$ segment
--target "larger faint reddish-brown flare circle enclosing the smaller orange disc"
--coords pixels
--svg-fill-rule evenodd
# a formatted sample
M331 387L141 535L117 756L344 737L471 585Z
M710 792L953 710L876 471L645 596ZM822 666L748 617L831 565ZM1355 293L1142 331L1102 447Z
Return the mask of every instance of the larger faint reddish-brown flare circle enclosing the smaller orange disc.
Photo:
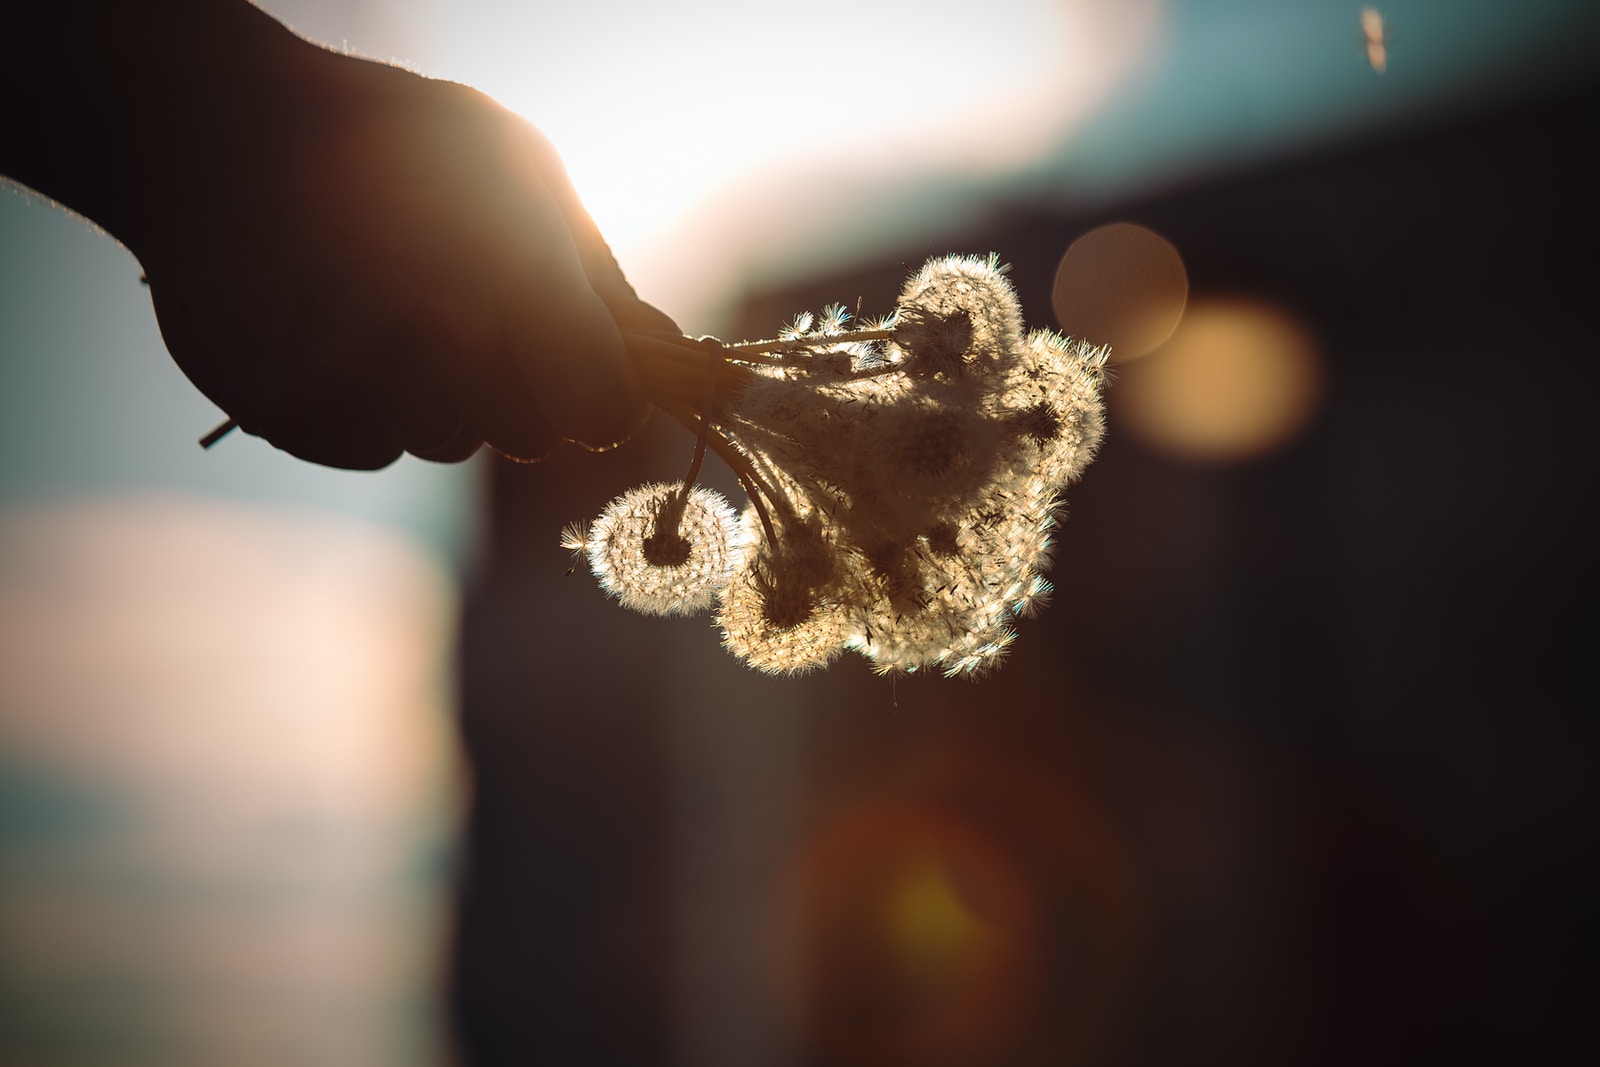
M800 1057L1085 1062L1142 957L1146 891L1117 825L973 737L829 793L768 912L768 989Z

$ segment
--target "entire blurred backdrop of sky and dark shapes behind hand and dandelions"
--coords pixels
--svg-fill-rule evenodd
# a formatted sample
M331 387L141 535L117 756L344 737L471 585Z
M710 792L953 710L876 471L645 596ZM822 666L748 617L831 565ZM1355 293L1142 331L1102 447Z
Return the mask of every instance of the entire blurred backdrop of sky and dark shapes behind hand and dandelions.
M1600 8L262 6L530 117L690 333L998 251L1109 438L998 673L768 678L565 576L682 430L202 453L138 264L0 190L0 1062L1592 1041Z

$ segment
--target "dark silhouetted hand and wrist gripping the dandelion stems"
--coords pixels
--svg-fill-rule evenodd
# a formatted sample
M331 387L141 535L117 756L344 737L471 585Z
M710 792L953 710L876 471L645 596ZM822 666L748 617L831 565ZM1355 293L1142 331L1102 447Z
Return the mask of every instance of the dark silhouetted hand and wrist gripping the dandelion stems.
M634 294L533 126L259 11L174 6L232 19L214 53L187 42L141 62L110 117L74 83L86 125L110 126L118 186L75 203L70 174L42 184L134 251L195 386L246 432L336 467L483 442L534 459L637 429L619 326L675 326Z

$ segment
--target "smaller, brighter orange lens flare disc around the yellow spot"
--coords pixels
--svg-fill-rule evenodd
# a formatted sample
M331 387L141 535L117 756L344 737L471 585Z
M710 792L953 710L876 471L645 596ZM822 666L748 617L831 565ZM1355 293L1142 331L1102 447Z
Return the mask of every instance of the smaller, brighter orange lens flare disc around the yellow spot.
M973 819L883 805L797 856L773 931L784 1013L830 1062L995 1049L1035 985L1040 902Z

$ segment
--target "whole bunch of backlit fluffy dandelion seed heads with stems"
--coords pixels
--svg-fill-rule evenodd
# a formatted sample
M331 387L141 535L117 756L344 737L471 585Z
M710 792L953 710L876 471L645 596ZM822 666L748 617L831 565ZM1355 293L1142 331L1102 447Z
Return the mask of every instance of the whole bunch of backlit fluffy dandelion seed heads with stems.
M854 649L880 672L994 665L1043 571L1062 491L1104 432L1104 347L1024 333L995 256L912 275L886 318L803 314L776 341L629 333L651 400L698 437L682 485L624 493L562 544L624 606L714 609L770 672ZM738 515L694 483L707 448Z

